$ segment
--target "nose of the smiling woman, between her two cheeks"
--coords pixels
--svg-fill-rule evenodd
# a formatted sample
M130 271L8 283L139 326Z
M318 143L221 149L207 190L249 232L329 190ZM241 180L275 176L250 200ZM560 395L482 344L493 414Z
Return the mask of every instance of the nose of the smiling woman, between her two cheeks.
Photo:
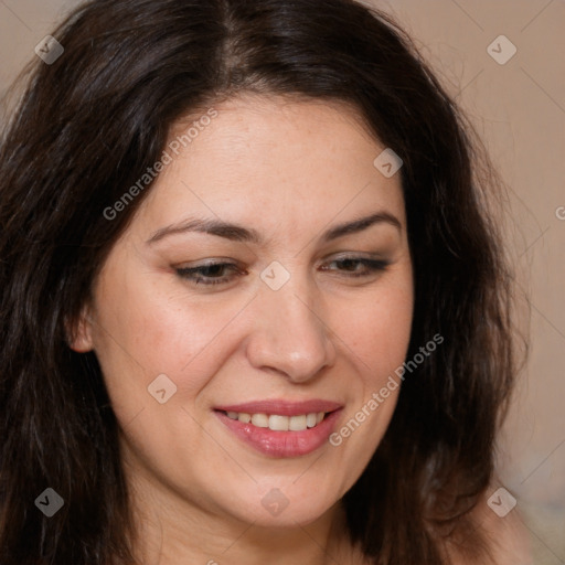
M327 312L315 288L298 276L280 289L259 289L253 301L253 331L247 356L253 366L281 374L295 383L315 379L335 360ZM316 308L318 306L318 308Z

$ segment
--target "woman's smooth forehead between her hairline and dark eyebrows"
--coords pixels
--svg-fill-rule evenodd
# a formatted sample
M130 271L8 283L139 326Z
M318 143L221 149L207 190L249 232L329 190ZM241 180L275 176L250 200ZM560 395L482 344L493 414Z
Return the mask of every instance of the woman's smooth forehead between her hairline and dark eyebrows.
M232 98L174 125L172 161L140 214L152 225L200 213L287 231L380 207L404 221L399 174L373 164L383 149L348 105Z

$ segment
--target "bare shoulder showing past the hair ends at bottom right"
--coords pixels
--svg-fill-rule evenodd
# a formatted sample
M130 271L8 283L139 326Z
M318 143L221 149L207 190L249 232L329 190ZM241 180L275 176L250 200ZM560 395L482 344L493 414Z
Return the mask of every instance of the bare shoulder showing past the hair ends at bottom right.
M489 492L489 495L492 491ZM471 516L491 550L492 565L532 565L530 532L525 527L519 507L505 515L497 514L488 504L488 495L481 498ZM501 512L503 514L503 512ZM475 565L458 555L451 556L451 565Z

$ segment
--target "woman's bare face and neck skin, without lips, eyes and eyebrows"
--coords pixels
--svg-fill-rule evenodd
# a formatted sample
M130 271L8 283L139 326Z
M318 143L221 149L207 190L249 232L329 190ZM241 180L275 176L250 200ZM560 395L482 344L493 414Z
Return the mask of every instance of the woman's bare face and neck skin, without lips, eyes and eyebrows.
M338 447L286 459L243 444L213 407L337 401L339 429L402 365L414 289L399 174L373 166L384 147L345 106L248 95L214 108L113 247L73 342L96 352L121 427L140 562L361 563L340 500L379 446L399 388ZM188 127L177 126L171 139ZM375 212L399 227L321 241ZM147 243L189 216L254 228L264 242L184 232ZM343 255L388 265L348 270L335 263ZM204 286L175 270L206 259L244 274L204 273L231 277ZM260 278L274 260L290 274L279 290ZM177 386L164 404L148 393L160 374ZM271 489L288 500L278 515L262 504Z

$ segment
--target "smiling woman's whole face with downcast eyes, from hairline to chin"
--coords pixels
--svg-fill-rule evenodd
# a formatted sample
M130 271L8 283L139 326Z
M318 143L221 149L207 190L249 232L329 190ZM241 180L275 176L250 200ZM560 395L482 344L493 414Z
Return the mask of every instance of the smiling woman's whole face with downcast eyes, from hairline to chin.
M399 173L345 107L239 97L207 115L171 135L74 348L96 352L140 495L306 524L396 404L380 391L412 323Z

